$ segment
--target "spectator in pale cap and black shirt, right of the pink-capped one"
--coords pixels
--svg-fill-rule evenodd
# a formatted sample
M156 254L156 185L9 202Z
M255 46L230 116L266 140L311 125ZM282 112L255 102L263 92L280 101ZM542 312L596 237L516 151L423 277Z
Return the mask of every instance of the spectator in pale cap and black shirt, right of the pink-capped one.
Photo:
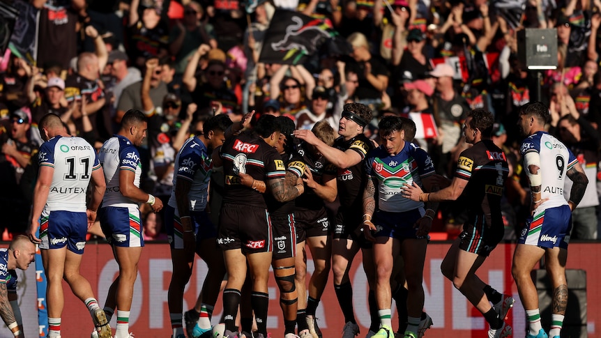
M463 123L469 112L469 106L462 95L455 90L453 77L455 70L447 63L439 63L430 72L436 78L434 94L434 121L438 126L439 137L436 150L432 152L432 160L436 163L436 171L447 177L452 172L451 151L459 143Z

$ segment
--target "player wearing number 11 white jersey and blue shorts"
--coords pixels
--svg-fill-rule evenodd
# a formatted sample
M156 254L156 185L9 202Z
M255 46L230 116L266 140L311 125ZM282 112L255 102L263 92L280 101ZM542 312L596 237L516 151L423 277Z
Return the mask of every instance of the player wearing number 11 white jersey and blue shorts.
M88 308L98 337L110 338L105 312L98 307L90 283L79 273L86 233L105 193L102 167L94 148L81 137L70 137L59 116L47 114L38 128L45 142L40 146L29 238L40 245L48 282L48 337L61 337L65 279ZM91 200L86 206L90 181ZM36 236L38 227L40 238Z

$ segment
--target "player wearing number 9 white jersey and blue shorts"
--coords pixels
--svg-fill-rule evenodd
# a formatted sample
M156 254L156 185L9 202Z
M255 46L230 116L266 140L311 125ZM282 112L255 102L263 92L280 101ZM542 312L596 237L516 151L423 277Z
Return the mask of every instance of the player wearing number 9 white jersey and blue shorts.
M575 155L561 141L545 132L549 109L542 102L528 102L519 109L517 125L526 137L520 147L530 181L531 217L517 240L512 275L528 319L527 338L559 338L568 304L565 263L572 228L572 210L580 203L588 178ZM563 197L566 176L574 183L570 199ZM538 291L530 275L545 256L545 268L553 284L551 330L540 325Z

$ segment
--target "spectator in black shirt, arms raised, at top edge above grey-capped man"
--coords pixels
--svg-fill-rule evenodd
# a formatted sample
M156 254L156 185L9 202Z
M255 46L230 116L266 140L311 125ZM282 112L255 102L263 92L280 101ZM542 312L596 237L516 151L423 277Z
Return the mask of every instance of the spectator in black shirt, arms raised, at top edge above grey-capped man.
M142 7L142 19L138 7ZM162 58L169 54L169 29L161 20L161 10L162 6L154 0L132 0L130 3L125 45L132 64L139 69L144 68L145 61L151 56Z

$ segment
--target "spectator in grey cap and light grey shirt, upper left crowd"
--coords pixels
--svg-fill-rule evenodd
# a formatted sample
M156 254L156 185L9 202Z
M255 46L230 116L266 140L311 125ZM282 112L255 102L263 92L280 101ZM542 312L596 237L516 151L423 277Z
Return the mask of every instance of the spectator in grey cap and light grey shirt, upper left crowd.
M109 53L109 59L107 61L107 68L109 68L111 76L114 78L114 86L109 89L110 96L110 107L111 116L114 118L117 105L119 105L119 99L123 90L142 79L140 71L135 67L128 67L128 54L121 52L119 49L112 50Z

